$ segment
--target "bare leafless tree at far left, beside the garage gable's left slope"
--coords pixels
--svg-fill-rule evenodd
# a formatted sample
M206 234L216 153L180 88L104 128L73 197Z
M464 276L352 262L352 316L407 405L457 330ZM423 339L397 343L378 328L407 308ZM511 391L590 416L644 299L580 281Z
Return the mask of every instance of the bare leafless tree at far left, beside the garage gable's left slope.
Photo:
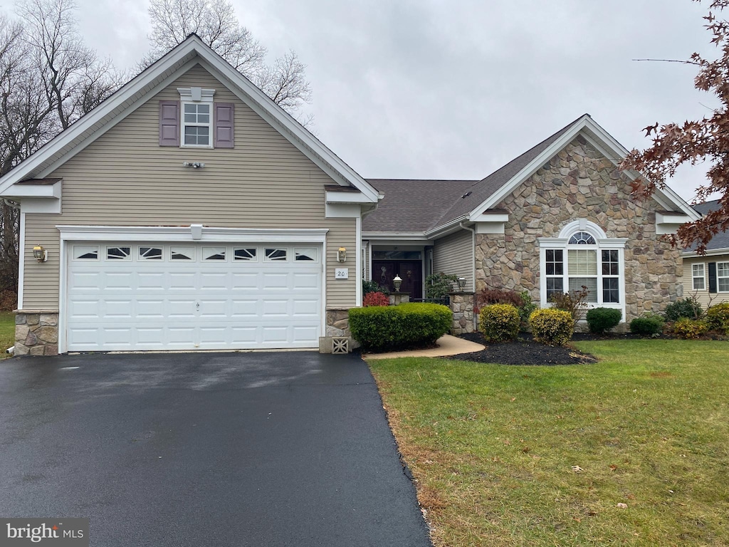
M0 15L0 176L104 101L122 82L85 47L70 0L26 0ZM17 290L17 203L0 201L0 290Z

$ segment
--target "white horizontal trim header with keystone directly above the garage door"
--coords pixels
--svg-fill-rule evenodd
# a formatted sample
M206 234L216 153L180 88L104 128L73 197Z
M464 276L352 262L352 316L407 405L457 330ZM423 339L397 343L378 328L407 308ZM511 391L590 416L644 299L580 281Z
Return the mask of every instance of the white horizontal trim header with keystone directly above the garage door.
M240 243L324 243L327 228L259 229L203 226L193 238L192 226L79 226L58 225L61 241L235 241Z

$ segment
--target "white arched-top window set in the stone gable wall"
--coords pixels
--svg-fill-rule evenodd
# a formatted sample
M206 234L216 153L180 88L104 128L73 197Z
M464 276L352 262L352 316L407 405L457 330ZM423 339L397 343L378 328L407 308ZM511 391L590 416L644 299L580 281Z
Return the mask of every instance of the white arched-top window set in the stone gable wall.
M624 308L625 241L608 238L585 219L569 223L556 238L539 238L542 306L555 293L586 287L591 306Z

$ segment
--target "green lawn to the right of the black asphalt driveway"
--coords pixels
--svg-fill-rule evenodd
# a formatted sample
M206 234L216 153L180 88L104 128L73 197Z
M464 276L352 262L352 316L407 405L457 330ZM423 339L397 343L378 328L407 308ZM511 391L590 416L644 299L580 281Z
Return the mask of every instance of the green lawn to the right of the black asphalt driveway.
M436 546L729 545L729 343L575 345L370 362Z

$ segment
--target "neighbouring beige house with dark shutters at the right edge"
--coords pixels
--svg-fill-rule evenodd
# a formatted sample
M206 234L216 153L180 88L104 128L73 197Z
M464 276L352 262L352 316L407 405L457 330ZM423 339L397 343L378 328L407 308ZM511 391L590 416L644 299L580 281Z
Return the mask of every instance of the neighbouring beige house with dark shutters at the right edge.
M719 201L693 206L700 214L718 209ZM706 245L706 255L687 249L683 252L684 296L695 298L704 308L729 302L729 233L720 232Z

